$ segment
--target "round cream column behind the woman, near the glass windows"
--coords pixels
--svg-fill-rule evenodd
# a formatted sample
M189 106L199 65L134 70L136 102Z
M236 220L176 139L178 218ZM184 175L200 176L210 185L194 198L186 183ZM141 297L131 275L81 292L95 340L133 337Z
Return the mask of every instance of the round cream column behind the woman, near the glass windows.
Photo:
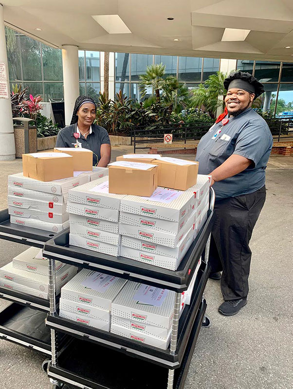
M70 125L74 103L79 96L78 47L62 45L65 124Z

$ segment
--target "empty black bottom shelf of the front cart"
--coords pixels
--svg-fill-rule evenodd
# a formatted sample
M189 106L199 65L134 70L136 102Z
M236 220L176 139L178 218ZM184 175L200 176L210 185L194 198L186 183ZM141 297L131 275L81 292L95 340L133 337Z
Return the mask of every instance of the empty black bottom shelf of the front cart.
M174 389L183 389L206 308L200 309L191 333L182 364L174 373ZM167 387L168 369L139 358L124 355L103 346L74 339L60 353L57 365L50 364L49 377L82 389L163 389Z

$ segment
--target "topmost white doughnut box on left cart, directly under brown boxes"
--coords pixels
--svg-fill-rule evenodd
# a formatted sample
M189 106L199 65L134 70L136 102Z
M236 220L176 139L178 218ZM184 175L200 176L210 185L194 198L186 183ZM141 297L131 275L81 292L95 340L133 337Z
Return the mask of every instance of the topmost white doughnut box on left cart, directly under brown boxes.
M17 173L8 176L8 185L18 189L21 188L21 190L29 189L32 191L53 193L54 195L66 195L70 189L85 184L88 182L88 179L89 178L86 176L79 176L43 182L38 181L37 179L24 177L23 173Z

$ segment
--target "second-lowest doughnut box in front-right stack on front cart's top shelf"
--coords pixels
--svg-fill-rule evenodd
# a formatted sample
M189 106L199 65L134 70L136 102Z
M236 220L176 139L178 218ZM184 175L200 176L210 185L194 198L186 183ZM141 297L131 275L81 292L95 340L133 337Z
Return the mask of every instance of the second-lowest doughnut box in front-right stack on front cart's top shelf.
M144 251L147 253L163 255L165 257L174 258L175 260L181 261L186 253L184 251L190 247L194 240L194 229L193 227L184 235L183 239L175 248L170 248L156 243L146 242L136 238L130 238L129 236L121 237L121 247L135 248L136 250ZM133 259L133 258L132 258ZM143 258L141 258L143 260ZM147 261L149 262L149 261ZM174 261L172 261L174 263ZM175 262L176 264L177 262Z

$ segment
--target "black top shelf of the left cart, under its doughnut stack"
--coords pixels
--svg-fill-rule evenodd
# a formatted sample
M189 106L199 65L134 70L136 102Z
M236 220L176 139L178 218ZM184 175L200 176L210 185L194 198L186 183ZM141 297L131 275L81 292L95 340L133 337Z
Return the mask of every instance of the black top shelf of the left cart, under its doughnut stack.
M43 248L44 243L56 235L54 232L10 223L8 209L0 211L0 239Z

